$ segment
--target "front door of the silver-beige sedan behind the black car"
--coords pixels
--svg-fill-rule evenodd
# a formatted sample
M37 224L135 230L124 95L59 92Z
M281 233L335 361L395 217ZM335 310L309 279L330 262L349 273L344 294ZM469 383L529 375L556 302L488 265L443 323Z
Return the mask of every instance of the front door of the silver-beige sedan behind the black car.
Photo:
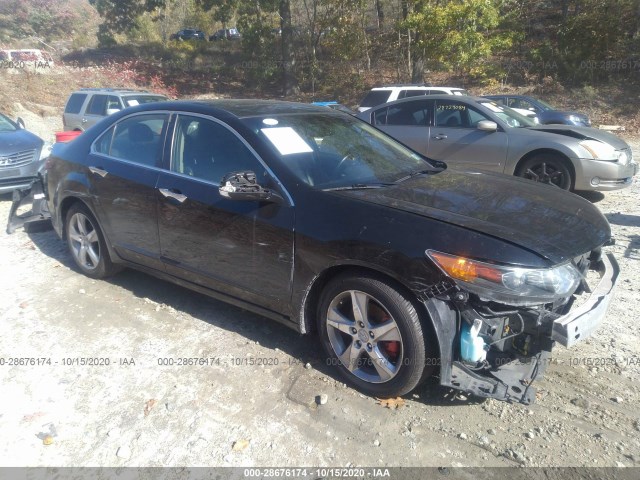
M482 120L493 121L474 106L459 100L435 100L427 156L459 168L502 172L508 150L507 134L498 127L478 129Z

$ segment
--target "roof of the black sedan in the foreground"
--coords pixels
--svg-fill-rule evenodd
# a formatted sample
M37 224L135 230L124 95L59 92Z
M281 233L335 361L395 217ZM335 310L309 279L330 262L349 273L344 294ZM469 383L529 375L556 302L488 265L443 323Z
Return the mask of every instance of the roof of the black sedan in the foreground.
M326 107L280 100L221 99L221 100L174 100L147 103L135 107L145 110L186 110L202 114L216 114L225 111L237 118L259 117L262 115L283 115L292 113L331 113Z

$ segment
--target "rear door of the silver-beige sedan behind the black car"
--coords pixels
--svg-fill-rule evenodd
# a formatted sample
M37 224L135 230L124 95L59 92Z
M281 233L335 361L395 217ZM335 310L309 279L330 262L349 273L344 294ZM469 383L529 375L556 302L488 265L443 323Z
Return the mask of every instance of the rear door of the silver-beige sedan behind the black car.
M373 112L371 122L409 148L426 155L432 105L433 100L420 99L383 107Z

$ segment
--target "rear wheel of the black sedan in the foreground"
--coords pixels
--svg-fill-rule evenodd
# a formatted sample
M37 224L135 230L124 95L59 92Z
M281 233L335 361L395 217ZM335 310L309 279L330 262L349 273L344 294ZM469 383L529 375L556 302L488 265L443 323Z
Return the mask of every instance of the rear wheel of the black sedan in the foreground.
M69 208L65 232L71 256L82 273L91 278L106 278L116 273L104 235L86 206L76 203Z

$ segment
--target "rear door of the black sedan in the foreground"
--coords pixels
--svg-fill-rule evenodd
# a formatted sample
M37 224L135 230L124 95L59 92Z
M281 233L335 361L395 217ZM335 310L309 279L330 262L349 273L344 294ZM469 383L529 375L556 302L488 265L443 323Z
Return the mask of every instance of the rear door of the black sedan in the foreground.
M124 118L96 140L88 164L98 217L118 255L160 269L156 184L168 118Z

